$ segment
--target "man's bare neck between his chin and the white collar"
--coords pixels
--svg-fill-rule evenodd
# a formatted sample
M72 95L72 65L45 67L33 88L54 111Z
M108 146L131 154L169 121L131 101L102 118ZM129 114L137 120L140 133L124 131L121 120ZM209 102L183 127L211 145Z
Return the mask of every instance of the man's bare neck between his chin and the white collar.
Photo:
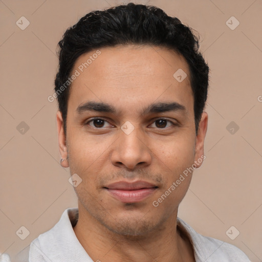
M108 230L79 205L74 232L86 253L97 262L195 261L189 239L177 228L177 210L154 232L128 236Z

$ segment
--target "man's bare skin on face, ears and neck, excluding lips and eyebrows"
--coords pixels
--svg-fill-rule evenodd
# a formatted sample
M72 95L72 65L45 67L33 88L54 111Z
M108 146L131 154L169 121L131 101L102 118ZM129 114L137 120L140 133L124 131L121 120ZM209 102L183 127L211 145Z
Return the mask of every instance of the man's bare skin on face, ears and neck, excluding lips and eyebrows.
M81 55L73 72L95 51ZM152 205L187 167L196 162L200 167L204 155L208 116L202 114L196 135L187 62L160 47L100 51L71 85L66 136L57 113L59 150L66 159L61 165L82 179L74 188L79 207L75 234L94 261L195 261L188 237L177 228L192 172L158 207ZM173 77L178 69L187 74L182 82ZM78 114L77 107L87 101L109 103L116 113ZM141 116L145 106L156 102L177 102L185 110ZM89 122L94 117L105 121ZM156 121L163 118L168 121ZM126 121L134 126L129 135L121 130ZM122 180L144 180L158 188L141 202L123 203L103 188Z

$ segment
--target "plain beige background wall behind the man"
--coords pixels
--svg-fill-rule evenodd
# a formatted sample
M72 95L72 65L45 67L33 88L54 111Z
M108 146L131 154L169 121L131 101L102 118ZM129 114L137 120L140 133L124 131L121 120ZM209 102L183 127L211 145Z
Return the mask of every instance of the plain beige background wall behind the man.
M70 172L59 165L56 102L47 100L56 45L85 13L120 3L0 1L0 252L13 256L53 227L64 209L77 206ZM179 216L199 233L261 261L262 1L135 3L156 5L197 30L211 69L207 158L194 172ZM21 16L30 21L25 30L16 25ZM226 25L231 16L240 22L234 30ZM16 128L22 121L29 126L25 134ZM226 129L231 121L239 126L234 134ZM24 241L16 235L21 226L30 231ZM240 232L233 241L226 235L231 226Z

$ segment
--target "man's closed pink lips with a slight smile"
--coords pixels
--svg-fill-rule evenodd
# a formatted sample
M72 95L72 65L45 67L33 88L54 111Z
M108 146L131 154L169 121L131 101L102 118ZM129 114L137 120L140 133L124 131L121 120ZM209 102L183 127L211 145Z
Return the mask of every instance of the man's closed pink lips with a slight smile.
M123 203L141 202L157 190L157 186L146 181L116 182L104 187L113 198Z

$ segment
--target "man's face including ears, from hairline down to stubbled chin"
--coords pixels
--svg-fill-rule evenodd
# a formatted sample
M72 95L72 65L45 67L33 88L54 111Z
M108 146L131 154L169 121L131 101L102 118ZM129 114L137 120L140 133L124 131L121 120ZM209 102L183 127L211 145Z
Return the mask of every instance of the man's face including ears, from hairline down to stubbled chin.
M60 152L69 158L63 166L82 179L75 187L79 208L113 232L146 234L177 214L192 173L170 187L203 155L206 126L196 136L182 56L150 46L103 48L81 72L95 52L81 55L72 71L80 75L70 90L66 141L57 114ZM179 69L187 74L182 82L173 77Z

